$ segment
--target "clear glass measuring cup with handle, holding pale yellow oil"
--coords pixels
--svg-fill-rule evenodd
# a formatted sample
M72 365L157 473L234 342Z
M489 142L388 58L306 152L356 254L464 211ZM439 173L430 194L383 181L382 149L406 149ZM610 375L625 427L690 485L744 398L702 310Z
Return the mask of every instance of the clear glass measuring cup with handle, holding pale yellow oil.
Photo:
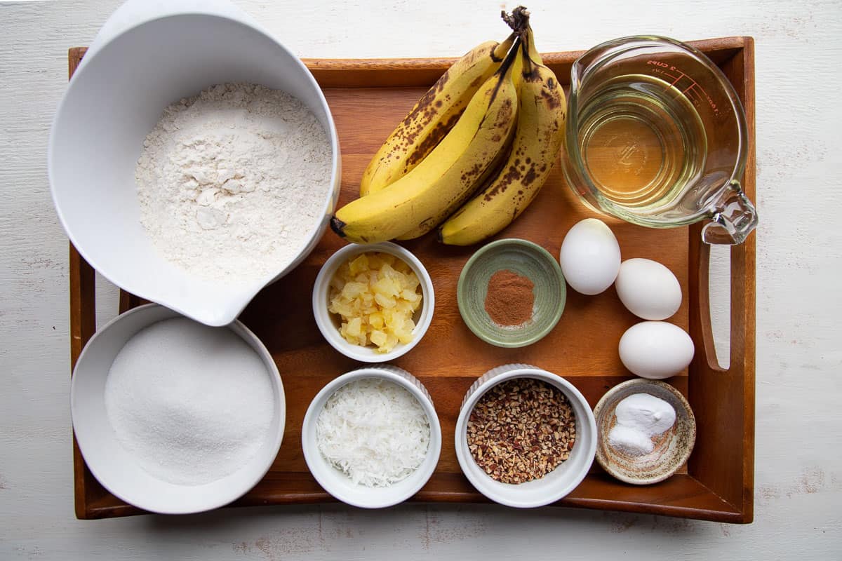
M625 37L573 63L562 169L598 212L654 228L710 220L704 241L741 243L757 226L739 183L748 140L731 83L690 45Z

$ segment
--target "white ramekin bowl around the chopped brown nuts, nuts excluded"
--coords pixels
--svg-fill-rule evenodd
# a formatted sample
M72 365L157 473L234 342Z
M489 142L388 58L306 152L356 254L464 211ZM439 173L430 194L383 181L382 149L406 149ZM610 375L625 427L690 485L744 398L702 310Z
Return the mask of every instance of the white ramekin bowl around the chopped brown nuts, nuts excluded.
M570 458L541 479L521 484L500 483L486 474L474 461L467 444L468 418L477 401L489 389L511 378L536 378L552 384L565 394L576 416L576 442ZM489 499L501 505L532 508L549 505L576 489L588 474L596 453L596 424L588 401L573 384L557 374L528 364L506 364L489 370L474 382L462 401L456 420L456 458L471 484Z

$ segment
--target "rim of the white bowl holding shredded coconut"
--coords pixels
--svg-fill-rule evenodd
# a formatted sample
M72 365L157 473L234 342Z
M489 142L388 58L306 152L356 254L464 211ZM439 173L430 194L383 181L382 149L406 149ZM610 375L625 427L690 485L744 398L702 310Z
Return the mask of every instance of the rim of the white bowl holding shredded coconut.
M372 500L370 502L354 500L354 498L349 497L344 492L344 488L338 488L336 485L332 484L330 479L322 477L322 470L328 468L332 469L332 466L328 464L327 460L322 458L322 454L318 450L317 443L312 441L310 438L306 438L308 429L315 426L318 415L322 412L322 408L330 396L332 396L344 385L354 382L355 380L365 378L385 379L397 384L403 389L408 390L408 392L412 394L416 400L418 400L418 403L427 415L430 435L427 458L424 459L424 463L418 466L418 468L412 474L409 474L407 478L402 479L402 481L406 481L409 478L416 478L417 481L413 485L409 486L408 490L405 490L403 493L392 493L392 495L390 495L390 497L386 500ZM315 434L315 428L312 428L312 432ZM322 489L327 491L329 495L332 495L334 498L341 500L347 505L356 506L358 508L386 508L388 506L402 503L404 500L408 500L410 497L418 493L418 491L427 484L430 477L432 477L435 473L435 468L439 463L441 455L441 443L442 436L439 415L435 411L433 400L427 389L424 387L424 384L421 384L418 378L415 378L406 370L397 368L391 364L366 365L344 373L337 378L333 378L333 380L328 382L328 384L325 384L325 386L316 394L316 397L312 399L310 405L307 406L304 420L301 421L301 450L304 453L304 461L307 464L307 468L310 470L313 478L316 479L317 483L321 485ZM432 459L429 459L428 461L428 458ZM383 487L379 489L389 490L390 488Z

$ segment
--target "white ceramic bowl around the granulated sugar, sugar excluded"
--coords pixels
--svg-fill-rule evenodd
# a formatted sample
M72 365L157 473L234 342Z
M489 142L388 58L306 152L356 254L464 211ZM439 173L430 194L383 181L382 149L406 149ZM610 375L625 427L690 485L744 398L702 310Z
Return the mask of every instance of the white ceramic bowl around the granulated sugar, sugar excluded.
M274 417L266 440L253 458L233 474L200 485L179 485L157 479L141 468L120 445L105 410L105 382L111 363L132 336L161 320L180 317L157 304L146 304L109 321L88 341L73 370L70 409L79 449L103 487L145 511L188 514L209 511L236 500L269 471L284 436L286 404L278 368L257 336L239 321L230 329L254 349L266 366L274 396Z

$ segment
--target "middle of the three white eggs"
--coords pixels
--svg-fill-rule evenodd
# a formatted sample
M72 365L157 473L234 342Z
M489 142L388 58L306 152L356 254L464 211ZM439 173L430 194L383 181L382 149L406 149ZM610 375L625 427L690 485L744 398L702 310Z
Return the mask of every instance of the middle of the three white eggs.
M681 285L667 267L651 259L626 259L614 281L620 301L644 320L666 320L679 310Z

